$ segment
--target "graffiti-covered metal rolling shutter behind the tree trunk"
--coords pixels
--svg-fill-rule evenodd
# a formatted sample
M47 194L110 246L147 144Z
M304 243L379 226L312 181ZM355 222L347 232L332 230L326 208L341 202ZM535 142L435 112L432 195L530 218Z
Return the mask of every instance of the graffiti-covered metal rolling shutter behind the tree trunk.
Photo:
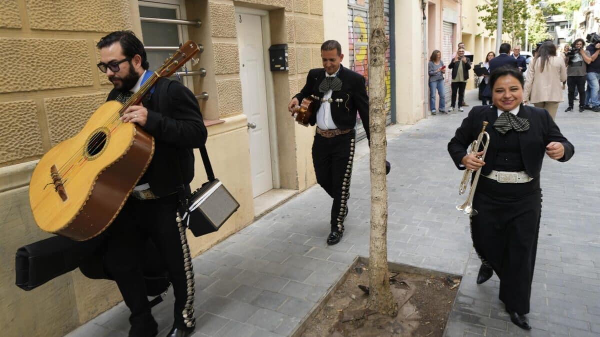
M385 11L385 33L389 37L390 25L389 25L389 1L384 1ZM364 2L364 5L362 3ZM348 0L348 39L349 39L349 61L350 69L356 71L367 80L368 89L368 36L369 36L369 23L368 23L368 0L357 1ZM385 71L385 83L388 88L385 97L385 111L386 111L386 125L392 122L392 89L393 83L391 83L392 69L390 65L390 49L386 50L386 71ZM356 139L362 139L366 137L364 127L362 127L362 121L360 117L356 116Z

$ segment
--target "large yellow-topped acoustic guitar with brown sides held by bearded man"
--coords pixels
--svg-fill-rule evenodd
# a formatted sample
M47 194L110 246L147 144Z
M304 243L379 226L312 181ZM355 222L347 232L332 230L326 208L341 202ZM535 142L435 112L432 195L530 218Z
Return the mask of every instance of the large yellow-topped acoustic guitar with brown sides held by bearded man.
M29 203L42 230L74 240L106 230L154 154L154 138L122 122L122 114L198 51L196 43L184 43L125 104L107 101L76 136L44 154L29 183Z

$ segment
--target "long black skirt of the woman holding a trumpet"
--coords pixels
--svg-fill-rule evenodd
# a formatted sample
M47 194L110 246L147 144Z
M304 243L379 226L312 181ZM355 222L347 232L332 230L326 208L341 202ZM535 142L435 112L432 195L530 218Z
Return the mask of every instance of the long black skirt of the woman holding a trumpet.
M480 177L471 216L473 246L500 278L506 308L529 312L541 216L539 178L528 183L499 183Z

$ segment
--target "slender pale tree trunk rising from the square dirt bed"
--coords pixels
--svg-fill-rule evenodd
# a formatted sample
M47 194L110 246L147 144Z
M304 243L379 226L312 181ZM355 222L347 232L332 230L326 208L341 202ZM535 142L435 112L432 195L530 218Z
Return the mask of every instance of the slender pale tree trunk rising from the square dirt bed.
M383 0L369 1L369 130L371 133L371 242L369 249L369 309L395 317L398 303L389 288L388 187L385 158L385 36Z

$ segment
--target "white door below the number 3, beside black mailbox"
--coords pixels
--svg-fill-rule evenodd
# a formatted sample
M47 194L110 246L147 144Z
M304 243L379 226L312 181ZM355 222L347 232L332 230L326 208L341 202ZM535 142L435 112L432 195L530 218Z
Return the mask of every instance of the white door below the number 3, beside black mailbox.
M248 116L252 194L257 197L273 188L269 120L266 107L265 61L260 16L236 14L239 46L239 77L242 104Z

